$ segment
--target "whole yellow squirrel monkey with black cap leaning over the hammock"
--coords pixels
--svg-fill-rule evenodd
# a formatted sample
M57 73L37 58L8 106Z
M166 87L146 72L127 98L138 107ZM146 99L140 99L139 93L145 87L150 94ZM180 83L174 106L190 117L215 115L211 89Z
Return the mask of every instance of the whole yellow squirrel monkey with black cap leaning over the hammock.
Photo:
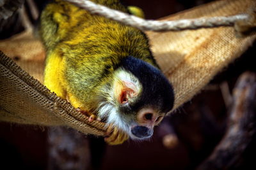
M118 0L94 1L129 13ZM111 145L150 138L174 99L145 34L61 0L47 4L40 20L46 87L90 120L113 125Z

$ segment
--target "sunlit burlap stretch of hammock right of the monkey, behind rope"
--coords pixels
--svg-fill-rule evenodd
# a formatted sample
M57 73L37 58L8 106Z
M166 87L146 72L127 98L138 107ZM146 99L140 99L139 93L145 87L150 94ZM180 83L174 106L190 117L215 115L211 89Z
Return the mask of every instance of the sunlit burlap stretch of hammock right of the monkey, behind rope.
M215 1L182 11L163 20L230 16L255 7L253 0ZM175 91L173 110L189 101L218 72L252 45L256 34L236 37L234 27L179 32L147 32L163 73Z

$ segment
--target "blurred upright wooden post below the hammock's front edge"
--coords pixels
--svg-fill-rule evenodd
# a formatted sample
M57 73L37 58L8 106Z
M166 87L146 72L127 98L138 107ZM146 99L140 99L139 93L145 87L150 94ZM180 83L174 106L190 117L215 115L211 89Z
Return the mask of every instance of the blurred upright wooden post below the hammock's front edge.
M50 127L48 142L47 169L90 169L89 142L81 132L67 127Z

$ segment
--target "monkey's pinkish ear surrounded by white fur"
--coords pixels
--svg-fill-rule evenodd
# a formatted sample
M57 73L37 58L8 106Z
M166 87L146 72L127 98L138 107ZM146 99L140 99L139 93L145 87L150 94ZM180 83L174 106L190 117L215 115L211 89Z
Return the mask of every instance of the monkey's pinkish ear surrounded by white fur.
M118 80L114 83L114 96L120 104L129 103L138 96L138 87L132 81Z

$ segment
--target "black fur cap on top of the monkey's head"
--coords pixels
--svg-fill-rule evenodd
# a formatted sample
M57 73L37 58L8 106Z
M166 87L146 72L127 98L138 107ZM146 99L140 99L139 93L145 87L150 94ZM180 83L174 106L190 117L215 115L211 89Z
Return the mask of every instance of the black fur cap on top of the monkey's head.
M172 110L174 95L170 82L157 67L134 57L125 57L121 66L132 73L141 83L141 94L131 103L132 110L138 111L145 106L156 108L161 113Z

